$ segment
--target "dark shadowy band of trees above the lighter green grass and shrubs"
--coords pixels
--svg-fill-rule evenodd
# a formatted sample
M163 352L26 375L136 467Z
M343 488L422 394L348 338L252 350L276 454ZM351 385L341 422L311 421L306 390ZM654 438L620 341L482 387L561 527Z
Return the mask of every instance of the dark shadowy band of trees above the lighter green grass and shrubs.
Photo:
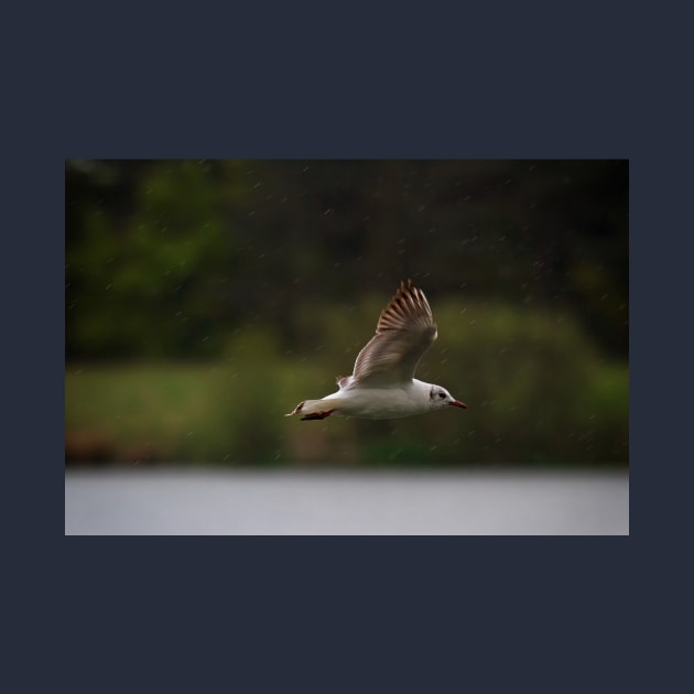
M215 356L401 279L575 313L628 354L626 161L66 162L68 358Z

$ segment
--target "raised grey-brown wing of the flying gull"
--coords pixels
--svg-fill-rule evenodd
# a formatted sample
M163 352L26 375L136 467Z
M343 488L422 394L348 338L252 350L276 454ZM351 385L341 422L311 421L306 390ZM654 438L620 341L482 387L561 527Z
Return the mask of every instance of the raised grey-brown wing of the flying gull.
M409 382L435 339L436 324L424 292L412 281L401 282L378 319L376 335L359 353L354 373L338 380L340 389Z

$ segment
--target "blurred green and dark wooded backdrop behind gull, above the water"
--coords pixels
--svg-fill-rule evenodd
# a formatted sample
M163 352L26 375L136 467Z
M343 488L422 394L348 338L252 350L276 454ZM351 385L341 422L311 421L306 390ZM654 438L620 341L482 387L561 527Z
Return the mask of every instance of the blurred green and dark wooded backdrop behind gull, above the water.
M627 161L65 166L65 459L628 466ZM401 280L468 410L285 419L336 390Z

